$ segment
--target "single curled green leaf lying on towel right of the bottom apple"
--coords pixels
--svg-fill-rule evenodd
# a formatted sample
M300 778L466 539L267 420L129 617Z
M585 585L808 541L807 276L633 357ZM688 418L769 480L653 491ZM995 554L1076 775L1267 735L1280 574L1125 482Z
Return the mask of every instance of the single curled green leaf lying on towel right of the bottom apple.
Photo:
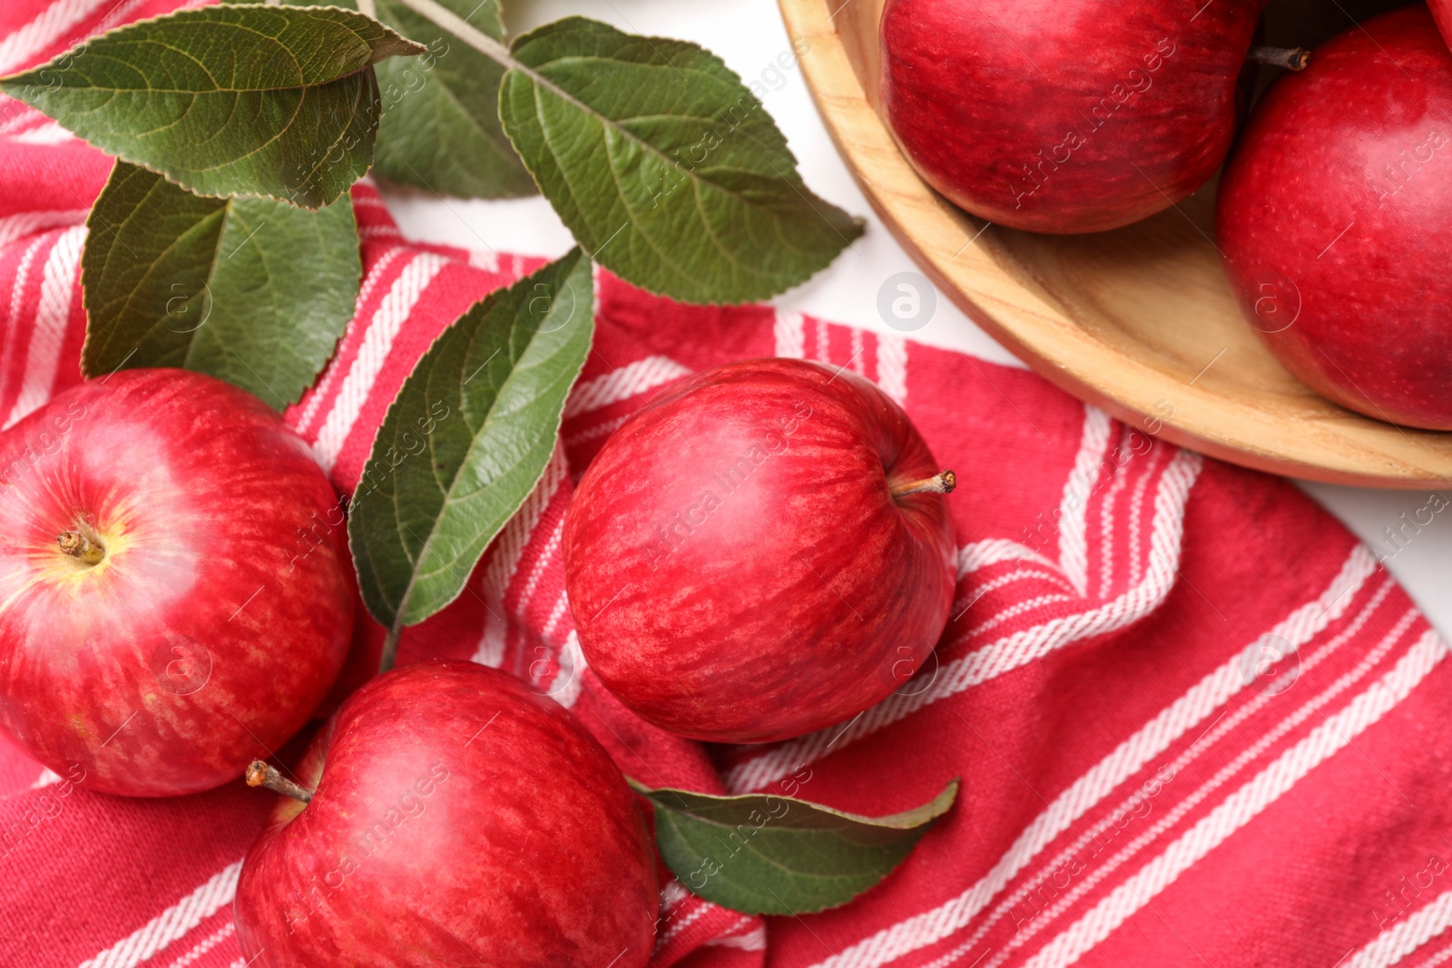
M908 856L958 795L871 819L791 797L650 789L661 859L693 894L742 914L809 914L847 904Z

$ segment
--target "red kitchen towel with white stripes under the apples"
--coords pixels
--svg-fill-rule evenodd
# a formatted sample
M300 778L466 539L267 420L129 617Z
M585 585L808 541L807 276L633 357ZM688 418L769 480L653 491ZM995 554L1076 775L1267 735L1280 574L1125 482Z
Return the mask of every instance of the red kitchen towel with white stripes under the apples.
M0 71L171 6L7 0ZM4 425L80 379L83 221L109 164L0 100ZM287 412L343 492L430 341L540 261L411 244L370 186L353 202L357 315ZM1446 646L1294 488L1159 444L1154 427L1029 373L896 337L681 306L605 273L598 319L544 479L401 660L504 666L652 785L886 814L964 779L902 868L844 908L742 917L668 884L653 968L1452 959ZM560 522L572 482L648 393L754 356L851 369L906 406L960 475L958 601L935 659L883 704L787 743L706 747L635 718L592 678ZM359 649L376 646L364 623ZM0 740L0 964L242 965L231 900L270 797L232 784L122 800L76 779ZM717 861L730 864L726 848Z

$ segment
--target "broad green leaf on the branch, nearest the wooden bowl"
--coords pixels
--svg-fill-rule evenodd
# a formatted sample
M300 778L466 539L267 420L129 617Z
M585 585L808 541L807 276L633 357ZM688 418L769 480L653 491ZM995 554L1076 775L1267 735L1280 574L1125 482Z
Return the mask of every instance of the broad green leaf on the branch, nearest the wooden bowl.
M575 239L629 282L697 303L765 299L861 235L709 51L569 17L513 57L504 131Z

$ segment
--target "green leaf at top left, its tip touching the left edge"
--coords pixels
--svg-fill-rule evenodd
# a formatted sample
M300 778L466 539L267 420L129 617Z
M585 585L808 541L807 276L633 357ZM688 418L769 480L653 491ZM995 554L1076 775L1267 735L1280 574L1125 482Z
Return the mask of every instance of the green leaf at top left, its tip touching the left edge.
M199 7L105 33L0 90L197 194L317 209L373 160L372 65L423 49L348 10Z

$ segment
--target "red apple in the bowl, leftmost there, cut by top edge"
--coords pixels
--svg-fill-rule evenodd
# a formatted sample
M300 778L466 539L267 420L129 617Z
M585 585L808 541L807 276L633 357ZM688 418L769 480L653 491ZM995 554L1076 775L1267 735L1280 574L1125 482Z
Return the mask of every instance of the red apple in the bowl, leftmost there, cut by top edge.
M1220 167L1265 0L889 0L881 107L973 215L1096 232Z

